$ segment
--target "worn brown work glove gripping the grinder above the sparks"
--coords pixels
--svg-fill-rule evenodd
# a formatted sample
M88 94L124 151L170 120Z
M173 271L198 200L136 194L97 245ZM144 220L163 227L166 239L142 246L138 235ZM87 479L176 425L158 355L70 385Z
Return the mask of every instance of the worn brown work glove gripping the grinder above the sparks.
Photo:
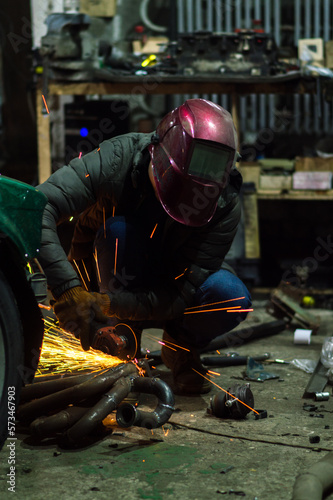
M66 290L52 306L60 327L79 338L82 349L88 351L92 322L107 322L110 298L106 293L90 293L76 286Z

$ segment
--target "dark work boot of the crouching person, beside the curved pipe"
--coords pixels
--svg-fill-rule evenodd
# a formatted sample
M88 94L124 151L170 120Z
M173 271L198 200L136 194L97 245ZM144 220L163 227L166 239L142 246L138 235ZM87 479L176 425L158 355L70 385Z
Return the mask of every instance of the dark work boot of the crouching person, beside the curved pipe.
M172 371L175 392L188 395L209 392L212 384L204 378L209 377L201 364L199 352L173 339L165 331L163 341L165 345L162 345L161 357L165 366Z

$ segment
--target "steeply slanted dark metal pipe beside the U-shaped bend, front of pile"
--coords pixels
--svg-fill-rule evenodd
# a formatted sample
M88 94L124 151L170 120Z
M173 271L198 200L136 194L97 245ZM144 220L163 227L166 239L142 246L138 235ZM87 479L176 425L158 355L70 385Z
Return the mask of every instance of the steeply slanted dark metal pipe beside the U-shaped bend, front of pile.
M84 436L90 434L126 398L131 392L131 387L132 381L129 377L119 378L112 389L103 394L102 399L67 430L66 438L69 443L79 443Z

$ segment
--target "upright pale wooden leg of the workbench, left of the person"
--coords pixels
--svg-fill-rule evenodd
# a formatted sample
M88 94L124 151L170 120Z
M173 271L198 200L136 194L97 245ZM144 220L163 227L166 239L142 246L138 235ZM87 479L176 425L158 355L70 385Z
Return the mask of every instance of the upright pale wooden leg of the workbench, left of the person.
M46 181L52 173L51 143L50 143L50 115L43 114L44 102L42 90L36 89L36 119L37 119L37 147L38 147L38 183Z

